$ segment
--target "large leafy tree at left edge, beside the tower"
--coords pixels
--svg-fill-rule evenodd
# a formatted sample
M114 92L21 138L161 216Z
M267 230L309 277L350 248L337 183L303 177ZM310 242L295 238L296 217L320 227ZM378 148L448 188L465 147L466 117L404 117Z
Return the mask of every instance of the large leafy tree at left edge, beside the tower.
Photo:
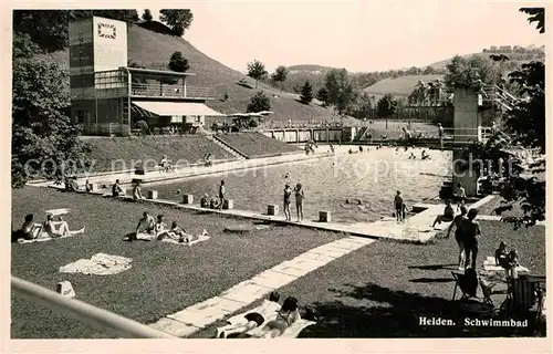
M90 149L65 114L67 72L28 56L38 49L28 34L14 33L13 48L12 187L22 188L33 177L56 179L90 167Z

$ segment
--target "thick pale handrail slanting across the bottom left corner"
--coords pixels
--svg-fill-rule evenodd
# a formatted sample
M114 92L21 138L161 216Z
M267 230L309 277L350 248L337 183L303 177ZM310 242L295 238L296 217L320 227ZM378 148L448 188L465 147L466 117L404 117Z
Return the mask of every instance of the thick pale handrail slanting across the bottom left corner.
M145 324L85 302L62 296L52 290L48 290L15 277L11 277L11 289L29 301L44 305L50 310L59 311L66 316L92 325L102 332L106 330L113 331L113 333L119 337L176 339L173 335L154 330Z

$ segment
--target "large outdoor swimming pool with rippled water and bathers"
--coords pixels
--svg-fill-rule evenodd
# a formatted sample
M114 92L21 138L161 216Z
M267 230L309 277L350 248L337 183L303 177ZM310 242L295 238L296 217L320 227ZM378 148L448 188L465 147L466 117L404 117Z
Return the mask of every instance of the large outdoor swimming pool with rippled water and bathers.
M217 195L220 180L225 179L227 198L233 199L234 209L264 214L267 206L274 204L282 214L285 181L292 186L301 183L305 190L306 220L315 220L320 210L327 210L333 221L375 221L382 216L392 216L396 190L401 191L410 208L438 196L444 176L451 171L450 152L428 150L431 159L420 160L421 148L405 152L372 147L358 153L357 147L352 147L357 153L347 154L348 148L341 146L332 157L148 184L145 189L156 189L160 199L180 202L182 194L191 194L199 204L204 194ZM409 159L411 153L417 157L415 160ZM346 199L351 202L346 204ZM292 216L295 220L294 198Z

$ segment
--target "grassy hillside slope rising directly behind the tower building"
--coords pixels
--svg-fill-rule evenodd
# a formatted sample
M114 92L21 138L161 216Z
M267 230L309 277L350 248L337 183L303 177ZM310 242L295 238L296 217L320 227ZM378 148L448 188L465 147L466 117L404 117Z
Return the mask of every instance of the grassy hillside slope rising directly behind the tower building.
M330 108L323 108L314 103L303 105L296 101L299 100L296 94L278 92L263 83L258 84L258 90L238 85L237 81L244 77L242 73L207 56L182 38L133 25L128 29L127 42L128 59L149 69L166 70L170 55L175 51L182 52L182 55L188 59L189 72L196 74L189 79L189 85L213 87L217 98L209 101L208 106L221 113L246 112L250 98L257 91L261 90L271 98L271 111L274 112L271 118L274 121L288 121L289 118L304 121L310 117L330 119L332 116ZM43 59L58 62L69 70L69 49L43 55ZM251 86L254 86L253 80L250 77L247 80ZM221 101L225 93L229 95L227 102ZM274 97L273 94L279 97Z

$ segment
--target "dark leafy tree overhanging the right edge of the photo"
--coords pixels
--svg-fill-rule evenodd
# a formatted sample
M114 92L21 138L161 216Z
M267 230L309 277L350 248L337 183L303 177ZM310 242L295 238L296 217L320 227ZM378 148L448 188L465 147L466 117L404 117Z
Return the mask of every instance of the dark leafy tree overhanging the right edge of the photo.
M540 21L535 20L540 18L543 21L543 8L528 13L531 14L529 22ZM538 29L543 33L543 27L539 25ZM545 219L545 64L536 61L522 64L520 70L509 74L509 80L519 87L517 94L521 96L512 110L505 112L502 121L503 129L513 139L509 142L501 133L497 133L486 144L472 144L463 153L467 160L472 157L477 174L486 173L489 176L481 188L490 192L498 191L502 197L497 214L512 209L514 204L521 206L523 216L504 218L517 229ZM533 148L538 154L525 162L517 154L517 146ZM486 162L483 167L481 162ZM509 169L505 168L508 163Z

